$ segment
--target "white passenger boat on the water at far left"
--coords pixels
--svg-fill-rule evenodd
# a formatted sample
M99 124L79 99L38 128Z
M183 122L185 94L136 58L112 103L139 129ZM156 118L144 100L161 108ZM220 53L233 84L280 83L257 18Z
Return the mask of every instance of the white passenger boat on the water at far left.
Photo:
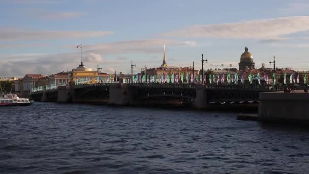
M0 106L29 106L32 105L27 98L19 98L16 94L5 94L0 98Z

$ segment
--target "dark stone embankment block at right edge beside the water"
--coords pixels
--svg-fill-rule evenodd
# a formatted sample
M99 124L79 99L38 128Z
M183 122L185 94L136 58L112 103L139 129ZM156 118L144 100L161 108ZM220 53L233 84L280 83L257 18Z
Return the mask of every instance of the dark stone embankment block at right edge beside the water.
M263 92L259 98L259 120L309 123L309 93Z

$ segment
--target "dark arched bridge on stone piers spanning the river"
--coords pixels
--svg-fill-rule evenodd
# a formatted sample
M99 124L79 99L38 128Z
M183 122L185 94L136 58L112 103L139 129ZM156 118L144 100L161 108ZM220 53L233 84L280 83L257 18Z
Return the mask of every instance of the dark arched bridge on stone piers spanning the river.
M85 102L115 105L193 105L207 108L212 103L258 102L259 93L283 90L265 85L122 84L98 83L59 86L36 91L35 101Z

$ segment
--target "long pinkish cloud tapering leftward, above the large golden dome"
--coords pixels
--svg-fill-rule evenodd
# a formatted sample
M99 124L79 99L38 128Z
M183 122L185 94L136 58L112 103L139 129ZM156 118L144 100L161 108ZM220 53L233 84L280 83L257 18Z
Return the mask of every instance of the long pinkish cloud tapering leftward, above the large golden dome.
M209 37L234 39L283 39L282 36L309 30L309 16L252 20L238 23L193 25L163 33L165 37Z

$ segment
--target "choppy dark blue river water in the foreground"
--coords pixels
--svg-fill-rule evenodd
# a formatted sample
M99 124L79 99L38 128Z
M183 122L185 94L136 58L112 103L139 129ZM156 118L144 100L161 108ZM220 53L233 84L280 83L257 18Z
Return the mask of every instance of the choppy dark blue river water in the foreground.
M309 173L309 131L235 113L0 108L0 173Z

